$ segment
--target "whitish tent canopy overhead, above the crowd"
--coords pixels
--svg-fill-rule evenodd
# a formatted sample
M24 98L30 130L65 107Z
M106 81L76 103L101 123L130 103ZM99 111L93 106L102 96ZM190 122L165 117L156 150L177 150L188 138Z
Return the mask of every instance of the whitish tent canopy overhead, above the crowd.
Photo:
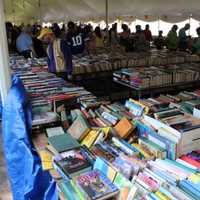
M105 19L106 0L4 0L6 19L14 22L100 21ZM200 20L200 0L108 0L109 20L135 18L167 22L192 16Z

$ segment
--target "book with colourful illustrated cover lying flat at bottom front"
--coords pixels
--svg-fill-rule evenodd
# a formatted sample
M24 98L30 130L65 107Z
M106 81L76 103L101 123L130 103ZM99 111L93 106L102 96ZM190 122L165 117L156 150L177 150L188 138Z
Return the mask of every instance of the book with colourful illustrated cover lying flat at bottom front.
M92 170L76 178L76 183L91 200L114 197L118 188L99 170Z

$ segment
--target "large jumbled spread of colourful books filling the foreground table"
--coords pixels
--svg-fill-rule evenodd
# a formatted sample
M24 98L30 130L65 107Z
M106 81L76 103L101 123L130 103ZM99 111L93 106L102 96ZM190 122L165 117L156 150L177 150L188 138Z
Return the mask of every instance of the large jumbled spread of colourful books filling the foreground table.
M199 90L81 107L34 143L61 199L199 200L199 108Z

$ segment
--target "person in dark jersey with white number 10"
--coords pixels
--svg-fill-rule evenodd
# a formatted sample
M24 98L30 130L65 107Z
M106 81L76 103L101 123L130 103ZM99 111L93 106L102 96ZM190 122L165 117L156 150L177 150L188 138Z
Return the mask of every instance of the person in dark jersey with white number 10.
M72 55L83 53L88 48L89 37L82 33L81 30L78 30L74 22L68 23L66 40L71 48Z

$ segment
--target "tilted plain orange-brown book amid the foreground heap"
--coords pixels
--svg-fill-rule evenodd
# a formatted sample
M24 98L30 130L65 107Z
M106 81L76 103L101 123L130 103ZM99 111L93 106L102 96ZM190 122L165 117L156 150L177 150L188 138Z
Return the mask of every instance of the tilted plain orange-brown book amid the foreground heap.
M121 138L126 138L132 133L134 126L126 117L123 117L114 129Z

